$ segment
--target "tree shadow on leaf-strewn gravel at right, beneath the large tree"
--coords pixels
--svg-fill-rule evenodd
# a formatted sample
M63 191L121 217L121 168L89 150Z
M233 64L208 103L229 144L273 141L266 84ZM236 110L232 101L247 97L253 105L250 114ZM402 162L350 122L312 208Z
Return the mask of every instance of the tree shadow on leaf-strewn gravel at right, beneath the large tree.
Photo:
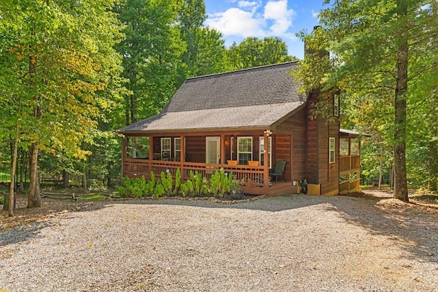
M340 196L339 196L340 197ZM404 203L397 199L357 196L344 197L348 204L330 202L349 223L371 234L389 237L394 245L417 260L438 263L438 212L436 206Z

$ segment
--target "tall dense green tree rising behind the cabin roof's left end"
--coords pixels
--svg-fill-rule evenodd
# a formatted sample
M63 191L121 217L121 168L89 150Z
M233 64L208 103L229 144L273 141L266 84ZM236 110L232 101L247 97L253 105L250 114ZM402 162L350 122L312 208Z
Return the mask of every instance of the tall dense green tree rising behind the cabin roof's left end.
M127 125L157 114L176 91L185 51L175 25L180 9L181 3L175 0L126 0L116 7L125 24L125 39L117 49L131 91L125 100Z

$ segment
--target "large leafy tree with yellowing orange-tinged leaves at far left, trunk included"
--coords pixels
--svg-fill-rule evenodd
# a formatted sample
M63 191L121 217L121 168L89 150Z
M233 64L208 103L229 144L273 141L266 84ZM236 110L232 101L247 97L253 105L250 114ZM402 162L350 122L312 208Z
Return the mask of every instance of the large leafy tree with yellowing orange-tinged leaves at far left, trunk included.
M23 105L21 145L29 147L28 208L40 206L38 154L65 151L84 158L100 110L111 106L105 90L118 90L120 38L112 1L6 1L0 15L2 68L12 74L10 94ZM0 88L3 95L5 88ZM14 134L14 132L10 133ZM16 136L16 135L11 135Z

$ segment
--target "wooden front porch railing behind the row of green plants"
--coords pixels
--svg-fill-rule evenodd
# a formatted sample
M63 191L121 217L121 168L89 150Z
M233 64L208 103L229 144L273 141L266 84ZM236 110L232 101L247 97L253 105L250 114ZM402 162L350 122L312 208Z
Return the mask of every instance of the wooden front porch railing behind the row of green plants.
M205 164L199 162L179 162L179 161L162 161L162 160L147 160L147 159L131 159L126 158L123 165L124 173L130 178L144 177L149 179L151 171L158 178L159 175L166 171L170 171L175 176L177 169L181 170L181 178L187 180L190 178L190 171L198 171L203 177L209 179L211 174L216 170L223 168L227 173L233 173L233 176L237 180L253 180L255 182L263 181L263 166L248 167L248 165L236 165L232 167L230 165L215 165Z

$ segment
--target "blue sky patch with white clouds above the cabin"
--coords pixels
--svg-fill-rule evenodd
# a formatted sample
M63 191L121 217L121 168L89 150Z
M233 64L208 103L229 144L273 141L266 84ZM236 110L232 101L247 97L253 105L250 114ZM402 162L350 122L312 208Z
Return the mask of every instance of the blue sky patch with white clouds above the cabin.
M302 29L311 32L324 0L204 0L205 24L222 32L225 45L248 36L278 36L289 55L303 57L304 44L296 37ZM324 7L325 8L325 7Z

